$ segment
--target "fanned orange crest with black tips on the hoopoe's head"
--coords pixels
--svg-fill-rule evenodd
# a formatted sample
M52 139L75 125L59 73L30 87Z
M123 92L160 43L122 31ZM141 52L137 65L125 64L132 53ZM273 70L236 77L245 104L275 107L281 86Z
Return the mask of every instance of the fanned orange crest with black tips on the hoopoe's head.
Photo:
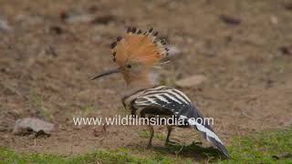
M159 64L168 56L165 40L156 40L158 32L152 28L142 33L136 27L129 27L124 37L118 36L117 41L111 44L114 62L124 67L127 62L136 62L145 67Z

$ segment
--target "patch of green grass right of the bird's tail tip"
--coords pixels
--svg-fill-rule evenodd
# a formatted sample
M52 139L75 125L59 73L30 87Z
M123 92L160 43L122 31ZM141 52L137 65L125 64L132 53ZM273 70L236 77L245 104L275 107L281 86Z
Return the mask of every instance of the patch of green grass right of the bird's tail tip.
M233 159L222 163L292 163L292 128L235 137L227 149Z

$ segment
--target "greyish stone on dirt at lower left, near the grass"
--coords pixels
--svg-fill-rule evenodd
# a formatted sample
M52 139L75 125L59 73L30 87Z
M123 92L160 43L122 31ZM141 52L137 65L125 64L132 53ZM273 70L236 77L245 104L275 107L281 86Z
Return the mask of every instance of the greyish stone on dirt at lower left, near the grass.
M15 127L13 128L13 134L26 135L32 132L50 134L54 130L54 124L46 122L38 118L22 118L17 119Z

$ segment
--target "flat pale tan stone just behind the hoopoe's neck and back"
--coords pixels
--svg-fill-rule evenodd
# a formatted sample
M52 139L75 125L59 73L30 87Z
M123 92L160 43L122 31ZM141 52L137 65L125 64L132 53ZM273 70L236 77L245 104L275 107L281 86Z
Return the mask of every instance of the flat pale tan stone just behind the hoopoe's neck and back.
M192 77L186 77L180 80L175 81L177 87L197 87L206 80L206 77L203 75L194 75Z

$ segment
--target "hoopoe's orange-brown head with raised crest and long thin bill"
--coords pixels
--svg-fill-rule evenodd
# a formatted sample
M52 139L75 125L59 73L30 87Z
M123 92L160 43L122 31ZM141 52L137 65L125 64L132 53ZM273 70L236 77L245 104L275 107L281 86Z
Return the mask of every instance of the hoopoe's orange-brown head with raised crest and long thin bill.
M147 82L149 70L162 62L168 56L165 40L156 40L158 32L152 28L142 33L135 27L128 28L127 34L118 36L117 41L111 44L113 61L119 68L100 74L93 79L104 77L112 73L121 72L127 84Z

